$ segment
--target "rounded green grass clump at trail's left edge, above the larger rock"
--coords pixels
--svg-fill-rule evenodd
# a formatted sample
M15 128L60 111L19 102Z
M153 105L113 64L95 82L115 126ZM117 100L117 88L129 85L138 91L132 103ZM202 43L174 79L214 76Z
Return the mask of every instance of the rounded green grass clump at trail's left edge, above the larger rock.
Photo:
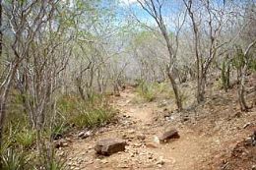
M103 103L103 96L95 95L85 101L71 95L63 96L58 102L59 112L66 123L76 127L96 127L108 122L114 116L114 109Z

